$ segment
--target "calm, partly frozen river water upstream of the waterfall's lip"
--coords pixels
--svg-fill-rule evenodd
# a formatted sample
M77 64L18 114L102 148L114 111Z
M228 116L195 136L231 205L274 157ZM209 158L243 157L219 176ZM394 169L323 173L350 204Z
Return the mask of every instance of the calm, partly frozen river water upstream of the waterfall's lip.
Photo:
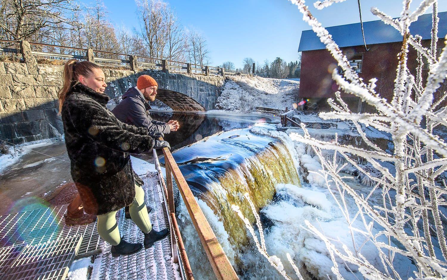
M151 115L160 121L174 119L180 122L179 131L165 135L165 139L173 148L172 151L221 131L248 127L258 122L278 121L261 114L219 112L152 112ZM0 215L46 207L46 200L50 200L64 185L72 182L64 141L42 142L26 146L22 150L23 154L12 165L0 171L0 200L3 202L0 205ZM152 163L151 154L138 157Z

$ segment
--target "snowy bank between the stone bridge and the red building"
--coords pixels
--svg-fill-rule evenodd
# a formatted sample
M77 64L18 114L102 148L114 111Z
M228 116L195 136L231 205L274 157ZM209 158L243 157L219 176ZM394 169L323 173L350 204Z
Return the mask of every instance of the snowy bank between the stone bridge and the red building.
M234 76L225 82L215 108L235 112L253 111L254 106L292 108L298 91L297 81Z

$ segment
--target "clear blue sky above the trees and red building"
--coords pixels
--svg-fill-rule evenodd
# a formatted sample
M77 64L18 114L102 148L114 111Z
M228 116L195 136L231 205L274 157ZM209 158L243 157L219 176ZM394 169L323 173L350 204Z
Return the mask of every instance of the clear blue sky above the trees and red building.
M84 3L90 0L82 0ZM211 65L232 61L241 67L245 57L263 63L277 56L297 60L301 31L310 29L298 8L287 0L164 0L176 11L186 27L194 27L208 42ZM316 10L307 1L312 14L323 26L359 22L357 0L346 0ZM413 10L421 0L414 0ZM136 5L132 0L104 0L109 17L116 26L138 28ZM402 0L361 0L363 21L377 20L371 14L374 5L392 17L400 15ZM447 11L447 1L439 1L439 12ZM429 11L430 12L430 11Z

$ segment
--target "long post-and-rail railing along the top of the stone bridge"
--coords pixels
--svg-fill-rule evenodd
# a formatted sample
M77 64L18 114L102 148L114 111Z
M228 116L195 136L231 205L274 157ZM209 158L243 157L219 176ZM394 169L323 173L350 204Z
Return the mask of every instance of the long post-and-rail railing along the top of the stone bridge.
M0 40L0 43L7 45L13 45L21 43L22 41L14 40ZM130 54L123 54L117 52L105 52L94 49L85 49L79 47L68 47L51 45L44 43L33 43L29 42L31 46L38 47L38 50L32 51L34 56L44 57L48 59L78 59L78 60L89 60L97 63L101 66L106 67L118 67L130 69L132 71L138 71L139 68L142 69L161 69L168 72L170 69L179 72L186 72L188 74L193 73L204 73L206 75L217 74L217 75L241 75L246 76L246 74L236 72L233 70L224 69L221 67L200 65L194 63L187 63L182 61L168 60L168 59L158 59L148 56L135 56ZM55 52L59 49L59 52ZM20 53L20 47L0 47L0 52L4 54L15 55Z

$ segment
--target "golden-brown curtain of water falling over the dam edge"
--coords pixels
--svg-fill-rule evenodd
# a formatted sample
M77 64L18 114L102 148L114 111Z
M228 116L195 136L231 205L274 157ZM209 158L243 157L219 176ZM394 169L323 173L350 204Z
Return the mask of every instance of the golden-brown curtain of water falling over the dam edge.
M217 179L218 182L211 185L211 191L203 194L201 199L223 221L230 242L236 247L246 244L247 234L244 223L231 209L232 205L239 206L245 217L254 223L249 204L243 199L245 193L249 193L259 210L271 202L276 185L299 185L295 165L281 142L272 143L264 151L245 159L236 168L228 169Z

